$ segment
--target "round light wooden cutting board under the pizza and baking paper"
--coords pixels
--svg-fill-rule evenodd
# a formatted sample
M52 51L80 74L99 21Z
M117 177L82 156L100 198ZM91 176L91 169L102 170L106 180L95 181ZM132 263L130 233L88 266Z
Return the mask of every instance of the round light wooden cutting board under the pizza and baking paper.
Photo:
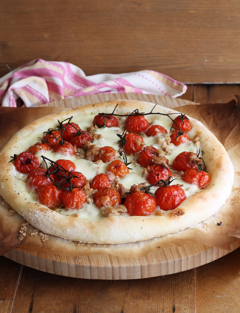
M141 100L175 108L194 104L188 100L143 94L96 94L55 101L41 107L58 106L74 108L96 102L117 99ZM240 247L240 239L231 251ZM212 248L205 244L185 245L154 251L141 258L124 258L109 254L91 256L63 256L36 249L15 248L4 254L20 264L41 271L86 279L139 279L174 274L212 262L228 254L228 250Z

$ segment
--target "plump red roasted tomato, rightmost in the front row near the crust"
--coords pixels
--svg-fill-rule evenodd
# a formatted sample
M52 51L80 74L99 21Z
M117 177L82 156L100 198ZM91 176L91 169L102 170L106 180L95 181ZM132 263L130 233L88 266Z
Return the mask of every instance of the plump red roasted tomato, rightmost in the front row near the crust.
M177 185L159 187L154 196L157 205L164 211L174 210L186 199L184 190Z

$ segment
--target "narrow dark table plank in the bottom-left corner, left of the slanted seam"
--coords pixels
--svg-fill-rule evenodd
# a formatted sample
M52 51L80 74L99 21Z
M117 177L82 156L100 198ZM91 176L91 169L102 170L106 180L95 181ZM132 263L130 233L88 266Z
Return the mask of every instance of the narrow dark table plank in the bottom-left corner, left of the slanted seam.
M22 265L0 256L0 312L12 312Z

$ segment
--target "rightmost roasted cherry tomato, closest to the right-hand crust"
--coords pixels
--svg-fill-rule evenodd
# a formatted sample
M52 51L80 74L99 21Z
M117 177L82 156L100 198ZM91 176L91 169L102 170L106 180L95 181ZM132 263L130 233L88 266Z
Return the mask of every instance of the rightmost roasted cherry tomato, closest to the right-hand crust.
M183 174L182 180L203 189L210 182L210 176L208 172L198 171L196 168L190 168Z

